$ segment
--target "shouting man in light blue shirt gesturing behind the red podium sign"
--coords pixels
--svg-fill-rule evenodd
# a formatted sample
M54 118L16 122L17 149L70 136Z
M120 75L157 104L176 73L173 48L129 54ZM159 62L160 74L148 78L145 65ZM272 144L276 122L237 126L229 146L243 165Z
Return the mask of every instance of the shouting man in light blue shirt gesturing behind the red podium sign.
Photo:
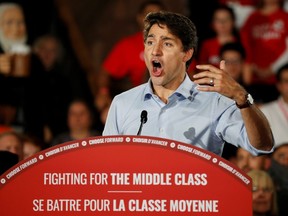
M220 68L197 65L199 73L190 80L186 71L197 47L190 19L171 12L148 14L144 44L150 79L114 97L103 135L162 137L217 155L225 141L254 155L273 151L268 121L226 73L224 61Z

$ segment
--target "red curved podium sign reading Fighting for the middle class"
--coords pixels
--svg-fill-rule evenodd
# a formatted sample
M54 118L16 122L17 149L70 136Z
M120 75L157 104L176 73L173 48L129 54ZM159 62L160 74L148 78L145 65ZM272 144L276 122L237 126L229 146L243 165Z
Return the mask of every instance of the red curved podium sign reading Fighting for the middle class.
M251 179L174 140L91 137L21 161L0 176L0 215L252 215Z

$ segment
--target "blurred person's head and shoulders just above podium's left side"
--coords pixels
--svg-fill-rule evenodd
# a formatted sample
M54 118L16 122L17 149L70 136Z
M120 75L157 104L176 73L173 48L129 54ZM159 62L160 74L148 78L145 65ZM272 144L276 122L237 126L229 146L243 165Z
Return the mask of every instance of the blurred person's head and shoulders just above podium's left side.
M51 146L72 140L101 135L99 131L94 129L93 119L93 108L91 108L85 100L76 99L72 101L68 108L67 115L69 131L56 136L52 140Z

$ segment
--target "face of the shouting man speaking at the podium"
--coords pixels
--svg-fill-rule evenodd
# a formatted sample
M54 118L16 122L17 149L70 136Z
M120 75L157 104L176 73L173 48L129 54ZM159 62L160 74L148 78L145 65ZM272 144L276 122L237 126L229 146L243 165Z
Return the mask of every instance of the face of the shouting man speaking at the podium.
M144 58L154 88L176 89L183 81L185 63L192 57L192 49L184 52L179 38L166 26L154 24L145 41Z

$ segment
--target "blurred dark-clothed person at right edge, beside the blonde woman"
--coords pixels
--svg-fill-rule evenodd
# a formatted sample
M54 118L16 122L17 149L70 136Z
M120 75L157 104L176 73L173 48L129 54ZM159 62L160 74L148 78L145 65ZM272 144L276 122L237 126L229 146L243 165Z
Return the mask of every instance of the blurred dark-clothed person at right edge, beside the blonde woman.
M288 140L276 146L268 171L276 185L279 216L288 215Z

